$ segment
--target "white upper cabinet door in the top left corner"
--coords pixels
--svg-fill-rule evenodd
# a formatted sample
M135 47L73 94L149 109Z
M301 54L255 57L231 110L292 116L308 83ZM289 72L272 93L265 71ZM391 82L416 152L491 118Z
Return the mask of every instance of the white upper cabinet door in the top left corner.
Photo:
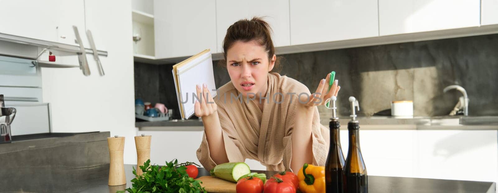
M0 0L0 32L57 41L56 0Z

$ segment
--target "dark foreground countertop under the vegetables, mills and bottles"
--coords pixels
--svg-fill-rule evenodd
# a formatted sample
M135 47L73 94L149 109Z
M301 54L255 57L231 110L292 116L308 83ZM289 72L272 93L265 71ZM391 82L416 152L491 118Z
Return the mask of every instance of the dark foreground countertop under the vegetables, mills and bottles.
M37 184L37 179L31 179L29 176L18 174L12 178L17 178L17 183L9 186L8 191L19 192L80 192L80 193L116 193L131 187L130 180L133 179L132 166L125 165L126 185L108 186L109 165L99 167L94 172L83 172L79 175L69 175L72 171L61 173L57 178L51 179L52 184ZM271 176L276 172L254 171L266 173ZM207 176L209 172L200 168L199 176ZM71 178L68 178L71 176ZM419 179L419 178L400 178L400 177L381 177L369 176L370 193L495 193L496 183L494 182L473 182L458 180L437 180L437 179ZM34 184L26 186L26 183ZM5 187L2 188L4 191Z

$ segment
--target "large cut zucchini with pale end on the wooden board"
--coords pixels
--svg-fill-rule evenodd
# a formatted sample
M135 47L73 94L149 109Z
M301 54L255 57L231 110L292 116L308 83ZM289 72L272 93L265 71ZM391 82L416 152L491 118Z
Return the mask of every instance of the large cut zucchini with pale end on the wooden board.
M215 166L210 171L211 176L237 182L241 176L250 174L249 166L244 162L229 162Z

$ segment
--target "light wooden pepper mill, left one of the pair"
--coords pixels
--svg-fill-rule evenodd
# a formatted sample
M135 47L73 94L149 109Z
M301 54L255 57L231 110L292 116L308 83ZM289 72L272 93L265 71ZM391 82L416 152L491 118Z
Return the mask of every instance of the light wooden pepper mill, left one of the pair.
M124 174L124 137L118 135L108 137L107 143L109 145L109 186L121 186L126 184L126 176Z

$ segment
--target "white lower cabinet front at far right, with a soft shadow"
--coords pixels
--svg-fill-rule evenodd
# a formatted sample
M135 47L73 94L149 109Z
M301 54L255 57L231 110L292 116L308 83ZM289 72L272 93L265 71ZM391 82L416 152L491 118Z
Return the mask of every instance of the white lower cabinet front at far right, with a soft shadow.
M415 178L498 181L496 130L417 131Z

